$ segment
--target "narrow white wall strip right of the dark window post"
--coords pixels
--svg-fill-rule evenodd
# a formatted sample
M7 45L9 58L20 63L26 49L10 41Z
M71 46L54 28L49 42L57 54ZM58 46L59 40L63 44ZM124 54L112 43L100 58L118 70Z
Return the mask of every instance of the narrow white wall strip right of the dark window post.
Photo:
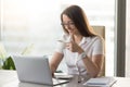
M127 0L126 76L130 77L130 0Z

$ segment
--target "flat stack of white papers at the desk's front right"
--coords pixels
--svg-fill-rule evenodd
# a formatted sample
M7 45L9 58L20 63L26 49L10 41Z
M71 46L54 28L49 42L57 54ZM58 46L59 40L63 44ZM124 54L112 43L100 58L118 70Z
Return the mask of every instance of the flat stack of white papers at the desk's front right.
M100 87L110 87L116 79L114 77L96 77L96 78L90 78L87 80L83 85L86 86L100 86Z

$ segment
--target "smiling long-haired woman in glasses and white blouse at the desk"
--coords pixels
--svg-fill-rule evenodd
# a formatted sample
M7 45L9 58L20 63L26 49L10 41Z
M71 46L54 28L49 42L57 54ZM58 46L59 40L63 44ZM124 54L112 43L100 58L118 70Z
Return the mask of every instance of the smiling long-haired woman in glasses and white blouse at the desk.
M52 73L64 58L68 74L96 77L104 58L103 38L92 33L84 12L78 5L65 9L61 14L61 22L65 32L62 40L67 42L65 48L56 49L50 62Z

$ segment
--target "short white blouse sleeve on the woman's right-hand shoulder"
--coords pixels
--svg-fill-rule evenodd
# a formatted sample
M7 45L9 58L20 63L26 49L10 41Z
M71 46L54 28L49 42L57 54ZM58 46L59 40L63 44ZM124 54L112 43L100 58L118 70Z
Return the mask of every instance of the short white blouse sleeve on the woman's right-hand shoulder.
M103 38L96 38L93 45L93 54L105 54L105 44Z

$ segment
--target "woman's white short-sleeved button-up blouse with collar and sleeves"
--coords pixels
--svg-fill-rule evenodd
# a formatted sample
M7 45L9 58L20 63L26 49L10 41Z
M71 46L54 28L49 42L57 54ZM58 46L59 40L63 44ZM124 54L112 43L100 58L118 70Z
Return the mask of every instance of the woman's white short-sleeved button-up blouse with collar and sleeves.
M60 40L69 41L70 37L67 35L63 35ZM79 46L84 50L89 58L92 58L95 54L104 54L104 40L99 36L83 37ZM67 50L63 42L57 44L56 52L64 54L64 59L68 69L68 74L79 74L79 69L80 74L88 74L83 61L79 60L77 62L78 53ZM76 65L76 62L78 66Z

